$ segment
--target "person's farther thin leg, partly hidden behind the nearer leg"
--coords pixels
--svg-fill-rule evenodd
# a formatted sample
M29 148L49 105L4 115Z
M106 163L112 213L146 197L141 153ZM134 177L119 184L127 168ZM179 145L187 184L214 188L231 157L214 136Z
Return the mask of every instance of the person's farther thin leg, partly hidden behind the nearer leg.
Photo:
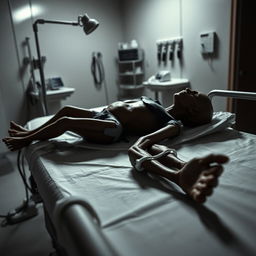
M62 117L77 117L77 118L91 118L93 116L93 113L91 110L83 109L83 108L77 108L73 106L65 106L62 109L60 109L51 119L49 119L46 123L41 125L40 127L34 129L34 130L26 130L22 126L16 124L15 122L11 122L10 129L9 129L9 135L15 136L15 137L25 137L28 135L31 135L34 132L39 131L40 129L48 126L49 124L55 122L56 120L62 118Z

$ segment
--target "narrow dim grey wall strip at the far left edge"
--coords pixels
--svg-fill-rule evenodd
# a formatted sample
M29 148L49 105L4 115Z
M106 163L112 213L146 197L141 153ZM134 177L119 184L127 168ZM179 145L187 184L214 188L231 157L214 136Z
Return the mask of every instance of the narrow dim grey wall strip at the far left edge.
M2 139L7 135L10 120L21 123L25 121L26 104L7 1L0 1L0 10L0 138ZM0 153L4 151L6 147L0 140Z

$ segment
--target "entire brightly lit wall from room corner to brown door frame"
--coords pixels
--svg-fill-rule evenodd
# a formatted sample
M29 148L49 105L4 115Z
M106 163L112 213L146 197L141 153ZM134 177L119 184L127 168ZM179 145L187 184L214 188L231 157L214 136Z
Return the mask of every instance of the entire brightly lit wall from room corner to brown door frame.
M195 90L208 93L227 89L231 0L125 0L126 40L137 39L146 53L146 77L160 69L172 77L188 78ZM201 32L215 31L216 56L203 58ZM157 65L156 40L183 37L183 61ZM216 111L225 110L225 100L215 100Z

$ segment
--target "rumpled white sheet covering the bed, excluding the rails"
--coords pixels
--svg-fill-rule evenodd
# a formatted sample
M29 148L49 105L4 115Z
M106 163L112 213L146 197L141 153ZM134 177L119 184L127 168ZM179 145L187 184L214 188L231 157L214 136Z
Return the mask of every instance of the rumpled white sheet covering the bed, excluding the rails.
M186 160L208 153L231 159L204 205L172 183L133 171L123 144L123 150L92 150L74 143L53 140L26 150L50 216L57 200L84 197L120 255L256 254L256 136L227 129L175 143Z

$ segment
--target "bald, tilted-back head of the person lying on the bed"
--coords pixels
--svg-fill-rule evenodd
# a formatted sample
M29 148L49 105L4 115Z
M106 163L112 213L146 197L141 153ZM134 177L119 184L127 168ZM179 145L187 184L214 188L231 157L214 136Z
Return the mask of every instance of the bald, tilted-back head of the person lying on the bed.
M213 107L210 99L189 88L174 94L173 108L176 118L186 126L206 124L212 119Z

